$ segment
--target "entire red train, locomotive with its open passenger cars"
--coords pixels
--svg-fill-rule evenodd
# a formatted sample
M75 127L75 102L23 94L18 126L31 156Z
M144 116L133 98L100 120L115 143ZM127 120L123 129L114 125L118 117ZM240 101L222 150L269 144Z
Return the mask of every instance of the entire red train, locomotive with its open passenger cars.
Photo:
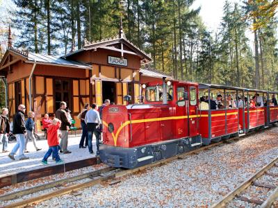
M137 168L278 121L278 92L166 78L140 88L139 104L104 107L99 157L108 166Z

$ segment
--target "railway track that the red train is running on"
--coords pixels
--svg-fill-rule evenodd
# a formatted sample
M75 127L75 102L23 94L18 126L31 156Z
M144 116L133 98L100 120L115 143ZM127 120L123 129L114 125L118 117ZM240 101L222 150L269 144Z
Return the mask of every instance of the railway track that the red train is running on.
M255 134L256 131L248 134L248 135L252 135ZM246 135L247 136L247 135ZM38 202L42 202L44 200L49 200L51 198L57 197L57 196L62 196L65 195L67 193L72 193L73 195L76 194L78 195L78 191L81 189L85 189L87 187L92 187L96 184L99 184L101 182L105 182L108 180L114 180L115 183L117 183L117 178L119 177L123 177L129 174L133 174L136 173L138 171L143 171L146 168L151 168L154 166L160 166L163 164L167 164L169 162L174 161L175 159L184 159L187 155L191 155L191 154L196 154L199 153L203 150L208 150L210 148L213 148L214 146L220 146L223 145L225 143L231 143L233 141L238 141L239 139L243 139L245 137L245 135L243 137L233 137L230 139L225 139L222 141L218 141L216 143L210 144L208 146L202 146L201 148L197 148L196 150L190 151L188 153L183 153L181 155L177 155L175 157L171 157L168 159L164 159L161 160L159 162L155 162L152 164L147 164L146 166L141 166L138 168L134 168L134 169L128 169L128 170L122 170L121 168L102 168L99 169L97 171L93 171L90 173L84 173L81 175L76 175L74 177L70 177L70 178L65 178L63 180L59 180L56 182L51 182L49 184L42 184L38 187L32 187L30 189L24 189L22 191L17 191L17 192L13 192L13 193L8 193L4 196L0 196L0 200L1 201L5 201L8 204L9 200L15 200L16 198L22 198L22 196L28 196L32 193L36 193L38 191L47 191L47 189L52 189L55 187L65 187L62 189L58 189L58 190L51 190L49 193L44 193L40 196L35 196L35 197L31 197L28 198L26 200L21 200L19 202L12 202L8 205L6 205L5 207L26 207L28 205L33 205L35 203ZM85 182L79 182L79 180L83 180L83 179L88 179L88 181ZM72 182L77 182L76 184L70 184ZM67 185L68 184L68 185ZM113 184L113 182L112 182Z

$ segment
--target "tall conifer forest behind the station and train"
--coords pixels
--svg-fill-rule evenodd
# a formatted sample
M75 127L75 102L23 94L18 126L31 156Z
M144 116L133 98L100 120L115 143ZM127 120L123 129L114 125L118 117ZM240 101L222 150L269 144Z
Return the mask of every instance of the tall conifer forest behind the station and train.
M15 7L0 19L0 60L8 25L15 31L14 47L64 55L81 49L85 40L114 37L122 17L126 38L152 56L153 62L145 67L179 80L277 91L278 1L226 0L217 31L207 28L199 15L202 8L191 7L194 2L13 0ZM4 96L1 82L1 106Z

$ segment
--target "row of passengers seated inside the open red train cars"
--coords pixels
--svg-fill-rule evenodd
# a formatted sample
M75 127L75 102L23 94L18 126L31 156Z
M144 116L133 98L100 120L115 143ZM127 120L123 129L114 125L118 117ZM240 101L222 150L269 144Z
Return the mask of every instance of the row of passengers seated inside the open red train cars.
M242 108L243 106L249 105L250 107L263 107L263 106L276 106L277 105L277 99L275 98L275 95L272 95L272 98L267 101L265 98L260 96L259 94L255 94L250 98L250 102L247 101L246 97L243 97L243 99L238 96L236 98L236 101L232 98L231 94L228 94L226 96L226 100L223 101L222 95L218 94L216 99L211 98L211 101L208 102L208 96L201 96L199 100L199 109L200 110L220 110L226 108ZM209 104L210 103L210 106Z

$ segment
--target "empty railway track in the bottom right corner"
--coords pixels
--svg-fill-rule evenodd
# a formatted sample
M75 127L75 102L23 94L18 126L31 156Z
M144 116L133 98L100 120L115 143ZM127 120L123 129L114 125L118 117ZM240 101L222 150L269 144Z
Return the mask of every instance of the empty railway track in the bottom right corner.
M256 182L256 180L259 180L261 177L263 177L263 175L268 175L272 178L272 182L277 181L278 173L271 173L272 171L270 171L272 168L277 168L278 170L277 162L278 162L278 157L273 159L269 164L263 166L261 170L257 171L254 175L252 175L252 177L248 178L245 182L243 182L238 187L236 187L236 189L227 193L226 196L224 196L220 201L215 203L215 205L213 205L212 207L213 208L227 207L229 203L233 202L233 200L240 200L243 202L252 203L254 205L261 205L261 207L263 208L271 207L272 203L278 198L278 187L276 185L269 184L270 182L266 184L266 183ZM265 198L265 200L261 200L257 198L248 198L243 196L244 194L246 194L246 191L248 192L248 189L252 187L255 188L261 187L263 189L267 189L268 193L270 191L272 191L272 193L270 193L268 198ZM257 197L259 197L259 193Z

